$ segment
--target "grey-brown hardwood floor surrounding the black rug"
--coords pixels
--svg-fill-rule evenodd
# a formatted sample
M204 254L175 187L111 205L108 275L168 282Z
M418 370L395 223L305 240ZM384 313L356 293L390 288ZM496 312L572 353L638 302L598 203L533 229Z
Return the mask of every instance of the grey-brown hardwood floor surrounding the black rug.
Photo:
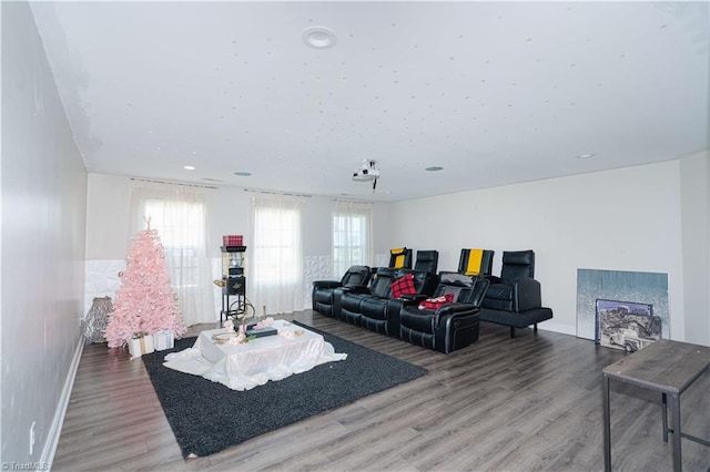
M286 318L429 373L185 461L143 362L130 360L126 351L90 345L52 470L604 470L601 369L622 358L621 351L544 330L518 330L510 339L507 328L481 324L476 345L446 356L310 310ZM187 336L211 328L193 327ZM683 393L684 432L710 438L708 392L710 372ZM615 470L672 470L658 401L647 390L612 383ZM686 439L682 448L684 470L710 466L710 448Z

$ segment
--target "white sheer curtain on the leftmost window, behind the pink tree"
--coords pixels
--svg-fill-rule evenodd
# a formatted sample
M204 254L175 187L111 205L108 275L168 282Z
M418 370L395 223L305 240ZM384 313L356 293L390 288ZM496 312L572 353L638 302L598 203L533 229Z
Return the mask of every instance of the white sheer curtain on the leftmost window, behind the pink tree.
M131 198L132 235L145 229L145 218L165 248L171 286L185 325L213 322L214 287L206 255L204 188L134 181Z

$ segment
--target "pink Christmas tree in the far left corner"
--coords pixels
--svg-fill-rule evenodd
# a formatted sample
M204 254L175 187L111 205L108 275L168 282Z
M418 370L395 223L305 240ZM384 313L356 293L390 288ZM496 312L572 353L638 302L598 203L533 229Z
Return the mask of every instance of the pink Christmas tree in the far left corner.
M126 256L125 270L119 273L121 288L104 337L110 348L120 348L134 335L153 335L171 329L175 337L186 330L178 308L178 294L170 287L165 252L155 229L139 232Z

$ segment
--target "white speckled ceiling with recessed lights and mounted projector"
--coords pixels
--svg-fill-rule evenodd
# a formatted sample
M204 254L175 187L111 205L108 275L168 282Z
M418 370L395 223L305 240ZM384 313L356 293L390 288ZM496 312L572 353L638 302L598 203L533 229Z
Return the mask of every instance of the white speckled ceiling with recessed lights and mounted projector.
M708 148L706 1L32 10L89 172L392 202Z

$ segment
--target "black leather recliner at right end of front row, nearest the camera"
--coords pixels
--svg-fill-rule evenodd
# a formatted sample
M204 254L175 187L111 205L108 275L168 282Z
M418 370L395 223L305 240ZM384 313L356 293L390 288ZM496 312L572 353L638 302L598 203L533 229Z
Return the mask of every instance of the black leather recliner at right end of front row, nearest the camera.
M437 309L418 308L422 298L393 300L390 309L398 310L402 339L449 353L478 340L480 304L489 280L457 273L442 273L433 297L454 295L454 302Z

